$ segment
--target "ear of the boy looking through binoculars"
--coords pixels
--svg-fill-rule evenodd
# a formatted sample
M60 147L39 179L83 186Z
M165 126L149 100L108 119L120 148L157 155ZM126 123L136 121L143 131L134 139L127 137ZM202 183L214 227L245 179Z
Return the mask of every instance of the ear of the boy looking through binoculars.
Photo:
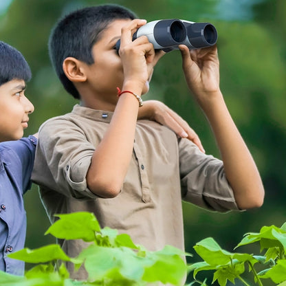
M84 63L72 56L65 58L65 61L63 61L63 72L73 83L83 83L87 80Z

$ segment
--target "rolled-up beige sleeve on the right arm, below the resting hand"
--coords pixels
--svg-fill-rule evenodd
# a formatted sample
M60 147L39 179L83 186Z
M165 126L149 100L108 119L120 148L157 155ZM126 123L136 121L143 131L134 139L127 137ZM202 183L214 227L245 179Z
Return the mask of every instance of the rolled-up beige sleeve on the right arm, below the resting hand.
M221 160L201 153L195 144L181 139L179 164L184 201L219 212L239 210Z

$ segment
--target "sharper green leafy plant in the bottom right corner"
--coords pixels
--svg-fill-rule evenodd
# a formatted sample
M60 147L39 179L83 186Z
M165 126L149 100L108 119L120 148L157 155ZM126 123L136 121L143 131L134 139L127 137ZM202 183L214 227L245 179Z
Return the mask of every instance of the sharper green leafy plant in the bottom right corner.
M242 241L236 246L248 245L250 243L260 243L261 252L265 250L263 256L254 254L228 252L223 250L214 239L208 237L203 239L194 246L195 251L204 260L194 263L188 267L190 272L193 271L193 277L197 273L206 270L214 272L212 283L217 281L220 286L227 285L228 281L235 283L239 279L242 285L262 286L263 279L271 279L275 285L286 285L286 223L281 228L275 225L263 226L259 233L250 232L245 234ZM245 270L245 265L248 270ZM263 270L257 272L256 265L263 266ZM252 272L253 282L248 283L243 279L245 272ZM200 285L203 283L194 281ZM190 285L194 285L191 283ZM273 284L272 284L273 285Z

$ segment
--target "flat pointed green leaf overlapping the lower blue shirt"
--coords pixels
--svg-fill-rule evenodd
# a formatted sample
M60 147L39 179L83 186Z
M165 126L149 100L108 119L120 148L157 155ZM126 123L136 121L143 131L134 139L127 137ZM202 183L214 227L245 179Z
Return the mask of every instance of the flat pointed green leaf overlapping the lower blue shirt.
M45 263L58 259L63 261L72 261L72 259L63 252L60 245L57 244L50 244L43 246L42 248L37 248L36 250L24 248L23 250L9 254L9 257L28 263Z

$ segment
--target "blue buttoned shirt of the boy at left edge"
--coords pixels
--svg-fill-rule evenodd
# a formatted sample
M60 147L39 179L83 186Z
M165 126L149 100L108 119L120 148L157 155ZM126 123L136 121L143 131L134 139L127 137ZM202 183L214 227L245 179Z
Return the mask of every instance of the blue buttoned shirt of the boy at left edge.
M36 138L0 143L0 270L23 275L23 261L8 254L23 249L26 213L23 194L31 186Z

